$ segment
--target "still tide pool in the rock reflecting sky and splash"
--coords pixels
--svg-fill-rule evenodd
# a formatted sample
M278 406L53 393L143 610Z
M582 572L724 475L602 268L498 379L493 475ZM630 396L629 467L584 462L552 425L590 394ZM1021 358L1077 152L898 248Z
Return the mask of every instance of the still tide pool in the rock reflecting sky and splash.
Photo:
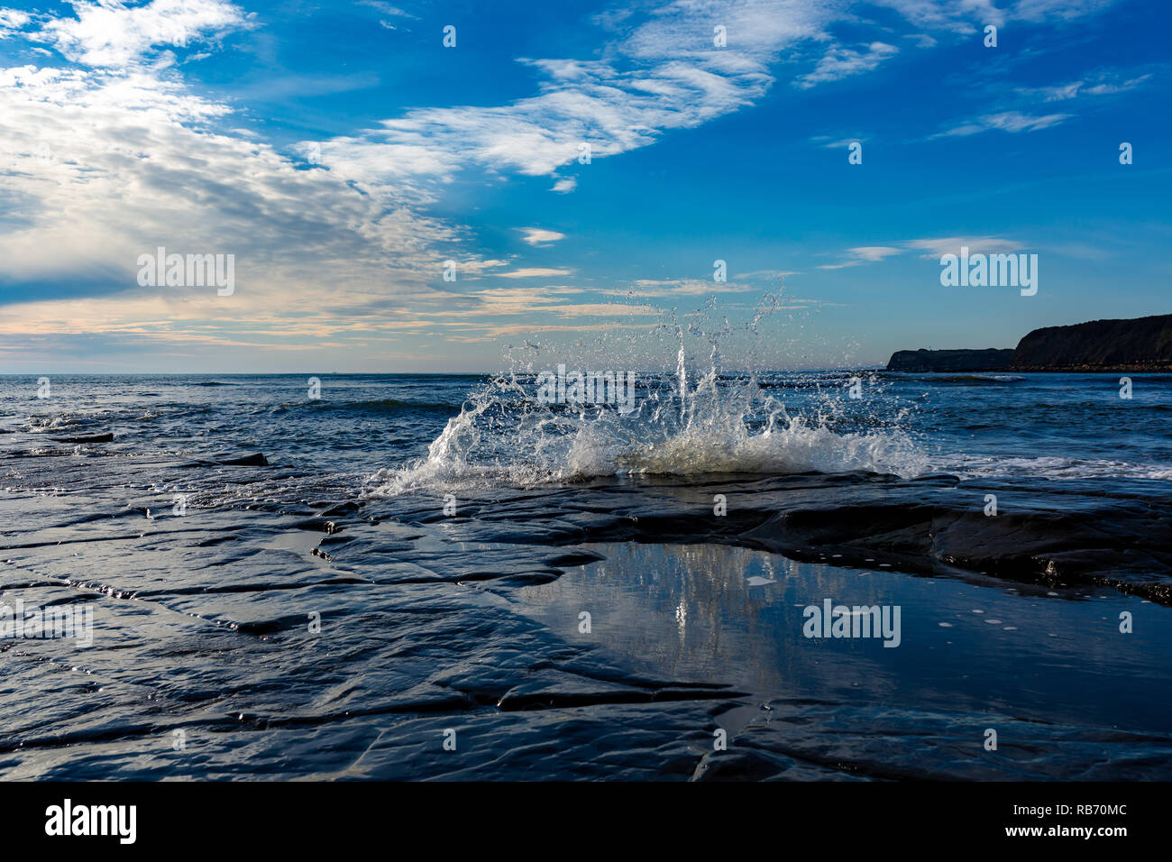
M799 563L727 545L584 545L606 557L515 593L520 610L628 670L755 700L1002 713L1172 729L1172 609L1096 592L974 585ZM899 605L901 638L806 638L803 609ZM591 615L591 632L578 630ZM1137 620L1119 631L1120 611Z

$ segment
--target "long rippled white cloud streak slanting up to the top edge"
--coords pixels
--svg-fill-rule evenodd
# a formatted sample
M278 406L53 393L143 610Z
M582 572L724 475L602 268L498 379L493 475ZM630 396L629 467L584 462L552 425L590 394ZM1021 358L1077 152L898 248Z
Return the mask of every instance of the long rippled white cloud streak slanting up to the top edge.
M846 0L668 0L606 16L618 36L599 60L523 60L540 72L539 91L502 106L423 108L379 128L321 143L322 163L370 184L410 171L443 182L476 168L554 176L579 159L654 143L759 99L772 83L777 52L826 38ZM728 47L713 45L713 21ZM572 191L559 178L554 191Z

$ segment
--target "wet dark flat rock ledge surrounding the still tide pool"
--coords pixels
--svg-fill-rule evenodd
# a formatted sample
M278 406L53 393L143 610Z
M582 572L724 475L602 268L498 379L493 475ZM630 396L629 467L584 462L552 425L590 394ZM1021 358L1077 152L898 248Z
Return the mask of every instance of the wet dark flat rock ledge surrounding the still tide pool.
M0 599L91 605L94 642L0 646L6 778L1170 774L1172 740L1157 727L1084 726L1070 705L1055 706L1050 722L1022 719L1010 703L880 707L879 694L856 697L817 674L806 686L822 695L796 697L772 683L745 685L752 678L720 665L645 663L605 637L584 639L574 616L540 622L523 600L567 571L606 564L599 545L582 545L672 542L817 562L824 591L860 583L856 568L867 566L897 578L893 590L919 576L966 589L1038 585L1070 608L1088 590L1167 603L1172 513L1142 481L1112 495L1077 482L1048 494L1001 483L996 517L983 515L981 483L861 474L484 489L447 516L442 494L347 498L278 461L293 493L266 500L272 467L209 467L199 487L222 493L239 482L255 500L202 508L197 487L180 515L170 503L191 484L184 461L123 457L101 481L55 454L20 464L26 487L41 487L43 470L52 490L0 497ZM727 496L725 516L713 513L715 494ZM621 577L650 577L648 568ZM695 589L673 602L687 604ZM800 625L799 611L790 613ZM792 626L758 637L782 644L795 667L812 672L823 660ZM872 646L868 660L886 660ZM970 660L983 661L973 650ZM1001 672L1011 673L1004 660ZM919 671L900 673L906 681ZM1136 673L1165 683L1147 665ZM989 722L1004 740L996 753L981 745ZM728 748L717 752L722 728Z

